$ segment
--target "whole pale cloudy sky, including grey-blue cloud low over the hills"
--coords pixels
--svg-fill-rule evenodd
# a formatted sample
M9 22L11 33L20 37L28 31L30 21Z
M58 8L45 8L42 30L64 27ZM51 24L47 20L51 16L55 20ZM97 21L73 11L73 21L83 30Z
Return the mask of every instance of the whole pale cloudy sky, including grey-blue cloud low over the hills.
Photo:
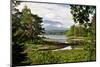
M74 24L69 5L23 2L17 8L22 11L24 6L43 18L43 27L46 29L65 29Z

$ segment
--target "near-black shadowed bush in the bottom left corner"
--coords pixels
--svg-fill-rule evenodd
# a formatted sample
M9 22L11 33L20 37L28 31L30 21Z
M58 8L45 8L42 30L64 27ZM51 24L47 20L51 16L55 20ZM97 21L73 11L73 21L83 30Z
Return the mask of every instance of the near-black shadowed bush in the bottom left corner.
M27 53L24 53L24 45L13 44L12 45L12 65L13 66L23 66L29 65L31 60L27 57ZM23 62L26 61L26 62Z

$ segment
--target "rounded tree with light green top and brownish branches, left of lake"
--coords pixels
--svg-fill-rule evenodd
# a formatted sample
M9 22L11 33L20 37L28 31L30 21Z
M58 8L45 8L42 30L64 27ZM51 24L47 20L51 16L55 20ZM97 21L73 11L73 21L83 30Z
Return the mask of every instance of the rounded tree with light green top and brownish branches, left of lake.
M24 7L21 14L20 23L23 28L23 36L25 39L32 40L33 42L41 39L38 35L44 33L44 28L42 28L42 18L31 13L31 10Z

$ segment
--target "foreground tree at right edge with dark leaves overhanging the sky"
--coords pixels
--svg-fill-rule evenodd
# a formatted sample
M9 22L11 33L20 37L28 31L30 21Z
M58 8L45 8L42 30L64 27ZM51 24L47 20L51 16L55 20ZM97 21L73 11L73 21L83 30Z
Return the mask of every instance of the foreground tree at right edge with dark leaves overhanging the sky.
M87 39L85 40L84 50L88 51L87 61L91 60L91 56L95 49L95 6L78 6L71 5L71 14L73 15L73 20L79 25L84 25L87 33ZM92 16L92 22L90 21L90 16ZM81 30L80 30L81 31ZM82 32L82 31L81 31Z

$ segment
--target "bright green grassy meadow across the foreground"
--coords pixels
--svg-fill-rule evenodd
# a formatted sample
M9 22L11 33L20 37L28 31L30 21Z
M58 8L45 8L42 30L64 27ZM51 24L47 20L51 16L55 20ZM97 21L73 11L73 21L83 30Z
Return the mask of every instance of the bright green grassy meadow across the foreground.
M50 45L52 44L52 45ZM55 49L56 43L45 43L45 44L26 44L27 47L25 52L27 57L32 60L32 64L54 64L54 63L70 63L70 62L85 62L95 61L96 53L95 50L89 56L89 52L83 49L72 49L72 50L38 50L41 47L48 47L48 49Z

